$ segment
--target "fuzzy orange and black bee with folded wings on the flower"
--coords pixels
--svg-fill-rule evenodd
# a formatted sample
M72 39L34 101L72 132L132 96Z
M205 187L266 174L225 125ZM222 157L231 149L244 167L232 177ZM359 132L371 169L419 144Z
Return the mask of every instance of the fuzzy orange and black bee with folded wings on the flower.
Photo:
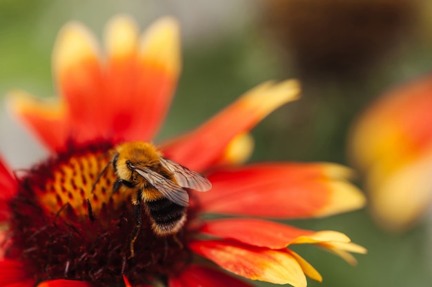
M204 175L164 158L153 144L143 141L115 146L106 168L110 163L117 175L112 191L131 192L132 204L135 206L136 224L130 242L131 257L141 228L141 203L156 235L175 235L186 221L189 195L184 188L197 191L211 188L210 181Z

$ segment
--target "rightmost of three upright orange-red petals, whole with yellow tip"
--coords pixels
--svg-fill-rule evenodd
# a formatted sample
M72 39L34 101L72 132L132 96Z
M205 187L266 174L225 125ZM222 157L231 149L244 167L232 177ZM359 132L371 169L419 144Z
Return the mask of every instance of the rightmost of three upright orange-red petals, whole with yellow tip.
M164 17L153 23L139 40L137 57L134 101L126 111L131 123L123 134L127 141L148 141L166 116L177 86L181 69L177 21Z

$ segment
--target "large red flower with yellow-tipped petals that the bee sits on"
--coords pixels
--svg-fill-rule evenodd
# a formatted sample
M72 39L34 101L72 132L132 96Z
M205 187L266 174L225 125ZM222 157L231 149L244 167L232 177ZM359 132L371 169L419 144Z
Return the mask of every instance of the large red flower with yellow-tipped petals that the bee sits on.
M106 155L119 143L150 141L159 128L179 75L179 32L170 17L142 37L126 16L107 27L104 59L80 23L61 30L53 57L60 98L40 101L19 91L10 97L12 110L52 155L16 176L1 161L1 219L8 226L1 285L250 286L224 270L293 286L306 286L305 274L320 281L292 244L315 244L355 263L351 253L365 249L340 232L258 219L323 217L364 205L342 166L242 165L252 150L248 130L297 99L294 80L263 83L202 126L158 145L164 157L203 172L213 188L190 190L187 221L176 235L155 235L142 215L131 256L133 208L128 192L111 192L117 176Z

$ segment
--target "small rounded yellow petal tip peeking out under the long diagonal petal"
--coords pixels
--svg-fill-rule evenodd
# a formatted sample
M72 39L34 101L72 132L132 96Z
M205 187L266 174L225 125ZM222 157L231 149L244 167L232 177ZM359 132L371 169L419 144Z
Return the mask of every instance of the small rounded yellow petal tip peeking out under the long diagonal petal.
M248 133L237 135L222 155L221 164L242 164L251 157L253 152L253 137Z

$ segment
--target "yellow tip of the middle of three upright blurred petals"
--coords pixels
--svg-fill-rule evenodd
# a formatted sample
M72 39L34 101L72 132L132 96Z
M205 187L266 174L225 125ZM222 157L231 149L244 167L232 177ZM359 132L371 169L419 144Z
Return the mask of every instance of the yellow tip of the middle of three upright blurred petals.
M105 31L105 45L109 57L124 57L136 52L139 29L127 15L111 19Z

